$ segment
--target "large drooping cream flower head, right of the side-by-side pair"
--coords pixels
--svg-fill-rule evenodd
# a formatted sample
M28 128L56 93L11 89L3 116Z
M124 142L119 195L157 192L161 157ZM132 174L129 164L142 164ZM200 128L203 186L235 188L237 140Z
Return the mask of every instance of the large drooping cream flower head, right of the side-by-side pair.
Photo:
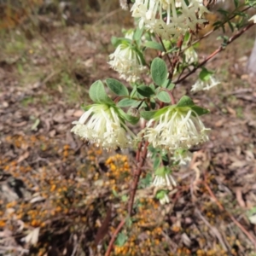
M201 119L191 108L165 109L165 113L156 115L149 120L144 132L144 138L154 148L174 151L177 148L188 149L208 140L209 129L203 125ZM151 127L153 125L153 127Z

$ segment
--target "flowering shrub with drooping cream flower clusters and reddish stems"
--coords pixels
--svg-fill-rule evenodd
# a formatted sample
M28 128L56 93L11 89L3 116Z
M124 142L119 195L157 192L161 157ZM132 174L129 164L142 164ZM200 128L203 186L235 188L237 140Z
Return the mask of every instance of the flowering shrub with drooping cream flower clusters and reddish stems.
M219 48L201 62L195 44L202 38L196 39L196 35L207 25L206 14L212 5L224 1L129 2L120 1L122 8L130 9L136 28L126 33L124 38L113 38L116 49L109 55L110 67L126 83L106 79L92 84L90 99L94 104L84 107L85 112L78 122L74 122L72 131L107 150L132 148L137 151L128 200L128 216L131 218L147 156L152 160L154 169L154 180L151 179L153 182L148 186L155 187L154 197L161 204L168 204L169 192L177 186L172 177L174 166L189 160L189 148L209 140L210 129L201 121L201 115L209 111L196 105L189 96L176 99L174 91L177 84L182 84L197 70L200 71L199 78L191 83L192 92L209 90L220 83L204 65L253 26L255 16L249 17L246 11L255 8L256 1L234 0L236 9L233 12L220 10L224 21L216 22L212 32L218 28L225 29L224 24L228 23L235 34L230 38L222 37ZM232 20L234 17L235 21ZM155 50L153 60L148 60L147 49ZM108 96L106 86L115 95L113 99ZM136 133L130 127L139 121L143 125ZM114 233L106 255L111 253L115 236L124 224L122 221Z

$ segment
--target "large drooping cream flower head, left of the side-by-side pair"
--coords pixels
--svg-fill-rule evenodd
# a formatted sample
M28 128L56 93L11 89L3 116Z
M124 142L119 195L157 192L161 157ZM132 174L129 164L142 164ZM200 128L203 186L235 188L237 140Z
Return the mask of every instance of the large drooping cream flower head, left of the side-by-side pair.
M75 126L71 131L76 135L106 149L127 148L131 145L131 138L126 136L126 131L131 137L135 137L119 118L116 108L105 104L90 106L79 121L74 121L73 124Z

